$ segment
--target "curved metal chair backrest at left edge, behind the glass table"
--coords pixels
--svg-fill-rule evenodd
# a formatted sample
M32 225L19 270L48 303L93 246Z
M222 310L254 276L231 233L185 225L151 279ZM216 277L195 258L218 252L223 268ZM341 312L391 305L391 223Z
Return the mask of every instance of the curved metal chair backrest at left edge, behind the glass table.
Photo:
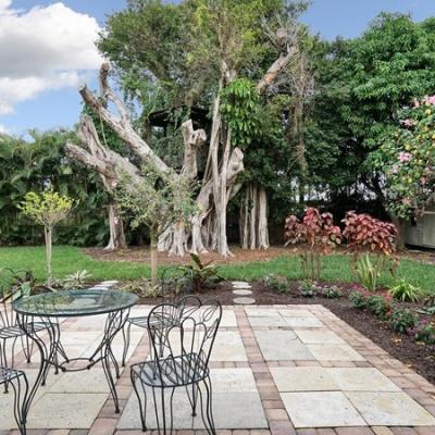
M29 296L33 284L32 272L0 269L0 330L16 325L16 316L11 303Z

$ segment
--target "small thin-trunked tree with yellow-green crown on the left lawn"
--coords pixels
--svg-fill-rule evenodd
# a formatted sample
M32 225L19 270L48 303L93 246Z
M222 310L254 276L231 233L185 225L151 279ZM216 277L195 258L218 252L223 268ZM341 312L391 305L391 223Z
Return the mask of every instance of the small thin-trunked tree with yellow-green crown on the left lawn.
M36 194L29 191L18 209L32 221L44 226L46 239L46 260L48 285L53 277L52 268L52 234L54 226L64 220L75 206L75 201L67 196L62 196L52 189Z

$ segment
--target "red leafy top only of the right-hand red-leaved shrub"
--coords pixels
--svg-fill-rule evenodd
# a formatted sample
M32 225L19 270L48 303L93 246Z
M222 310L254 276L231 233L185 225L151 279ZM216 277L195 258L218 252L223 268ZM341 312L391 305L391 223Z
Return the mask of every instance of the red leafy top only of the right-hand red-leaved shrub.
M343 236L353 252L369 250L384 256L396 252L396 225L355 211L347 212L343 222Z

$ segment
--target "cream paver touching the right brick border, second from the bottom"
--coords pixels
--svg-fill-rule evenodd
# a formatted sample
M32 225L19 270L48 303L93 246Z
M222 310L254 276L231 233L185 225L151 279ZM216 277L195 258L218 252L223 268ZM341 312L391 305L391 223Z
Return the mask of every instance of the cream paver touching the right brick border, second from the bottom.
M400 388L374 368L326 369L335 384L347 391L400 391Z

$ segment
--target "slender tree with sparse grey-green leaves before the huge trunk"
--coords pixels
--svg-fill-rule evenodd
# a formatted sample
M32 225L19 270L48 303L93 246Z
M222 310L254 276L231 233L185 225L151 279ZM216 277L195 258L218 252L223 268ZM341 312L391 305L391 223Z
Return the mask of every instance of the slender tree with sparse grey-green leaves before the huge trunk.
M185 238L186 224L197 209L191 182L187 177L176 177L171 171L162 172L152 163L142 166L141 175L138 179L123 175L115 197L121 211L132 219L133 228L139 225L149 228L151 285L157 286L159 236L175 224L174 237Z

